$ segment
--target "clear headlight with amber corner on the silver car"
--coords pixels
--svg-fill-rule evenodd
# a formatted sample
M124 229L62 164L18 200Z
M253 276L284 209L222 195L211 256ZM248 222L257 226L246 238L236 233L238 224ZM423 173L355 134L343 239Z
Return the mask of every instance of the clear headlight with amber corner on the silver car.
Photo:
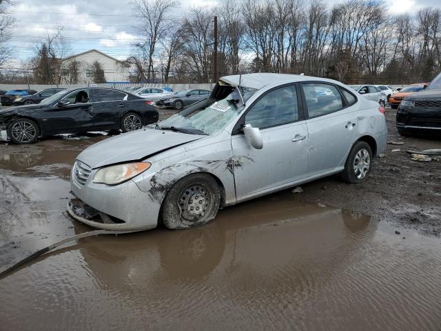
M107 185L115 185L128 181L142 172L145 172L152 163L150 162L136 162L123 163L117 165L110 165L110 167L101 168L96 172L94 183L103 183Z

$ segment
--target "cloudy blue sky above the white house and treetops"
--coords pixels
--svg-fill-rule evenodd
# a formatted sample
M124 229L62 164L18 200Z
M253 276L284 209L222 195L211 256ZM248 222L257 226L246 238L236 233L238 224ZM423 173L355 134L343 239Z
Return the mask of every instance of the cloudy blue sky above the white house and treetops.
M439 0L386 0L391 11L399 14L416 12L431 6L441 8ZM216 0L181 1L182 15L190 6L213 6ZM324 1L332 6L338 0ZM57 26L72 45L72 54L96 48L117 59L130 54L130 45L139 41L136 34L136 17L128 0L21 0L12 8L17 17L17 27L11 39L15 57L28 59L35 44Z

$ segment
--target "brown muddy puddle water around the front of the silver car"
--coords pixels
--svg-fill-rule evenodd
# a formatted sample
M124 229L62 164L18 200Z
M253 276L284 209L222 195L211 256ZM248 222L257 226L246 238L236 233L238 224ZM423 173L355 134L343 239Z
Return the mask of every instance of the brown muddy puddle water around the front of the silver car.
M0 270L91 230L65 204L98 139L0 146ZM0 279L0 330L440 330L440 239L293 200L45 254Z

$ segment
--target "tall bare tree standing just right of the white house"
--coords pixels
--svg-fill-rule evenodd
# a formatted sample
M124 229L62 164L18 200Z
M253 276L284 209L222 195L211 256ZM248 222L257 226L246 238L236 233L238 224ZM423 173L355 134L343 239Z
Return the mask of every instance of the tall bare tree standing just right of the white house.
M132 7L140 19L139 32L144 39L136 44L147 55L147 80L154 78L156 44L172 26L172 11L178 7L176 0L134 0Z

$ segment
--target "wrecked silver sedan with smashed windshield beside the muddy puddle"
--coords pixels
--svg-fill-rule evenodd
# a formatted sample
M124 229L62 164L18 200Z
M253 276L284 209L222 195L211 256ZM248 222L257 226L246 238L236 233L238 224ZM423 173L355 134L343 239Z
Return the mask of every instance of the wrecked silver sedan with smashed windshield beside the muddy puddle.
M227 76L209 99L81 152L68 211L105 230L192 228L220 208L338 172L362 183L386 143L384 109L338 81Z

